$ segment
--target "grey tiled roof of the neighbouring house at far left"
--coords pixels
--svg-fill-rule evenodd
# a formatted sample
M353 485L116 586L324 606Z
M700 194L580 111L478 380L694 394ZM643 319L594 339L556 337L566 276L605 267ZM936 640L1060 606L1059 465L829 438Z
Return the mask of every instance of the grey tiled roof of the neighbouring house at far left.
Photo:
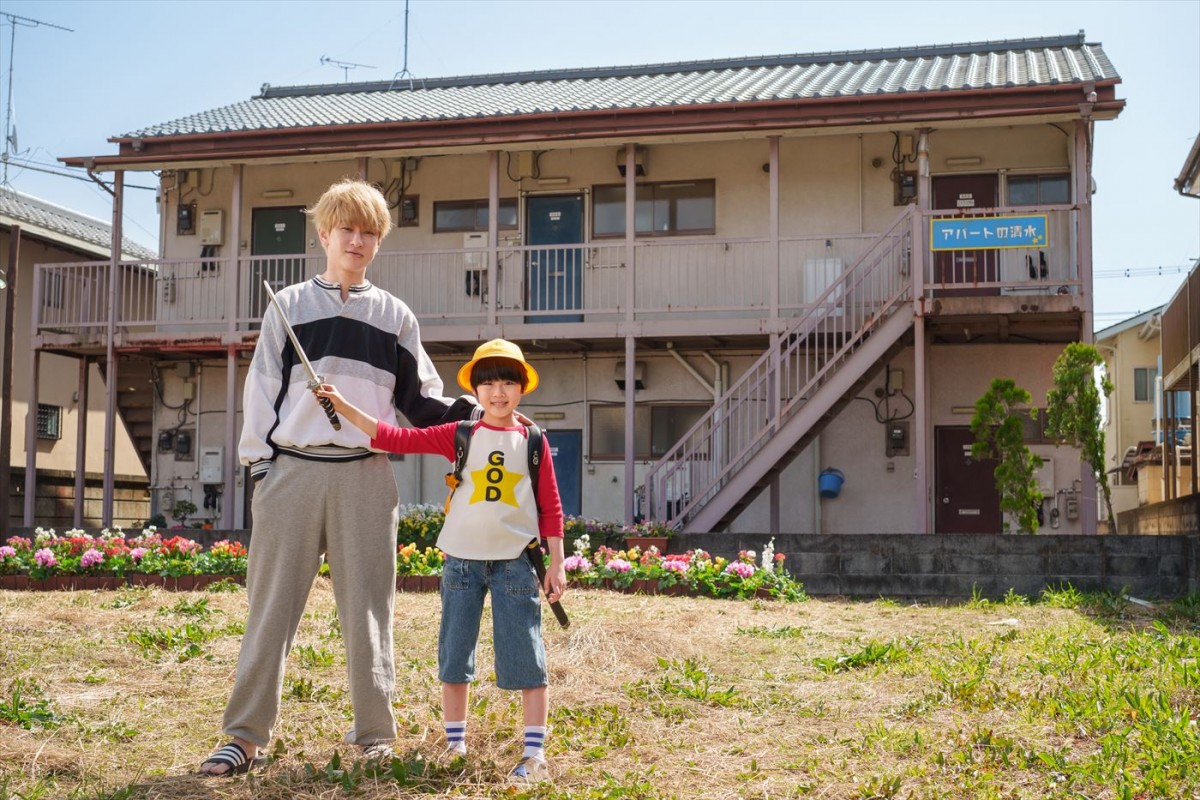
M4 186L0 187L0 227L12 225L20 225L23 235L37 236L83 253L102 258L112 254L110 224ZM122 260L154 259L158 255L128 237L121 240L121 249Z

